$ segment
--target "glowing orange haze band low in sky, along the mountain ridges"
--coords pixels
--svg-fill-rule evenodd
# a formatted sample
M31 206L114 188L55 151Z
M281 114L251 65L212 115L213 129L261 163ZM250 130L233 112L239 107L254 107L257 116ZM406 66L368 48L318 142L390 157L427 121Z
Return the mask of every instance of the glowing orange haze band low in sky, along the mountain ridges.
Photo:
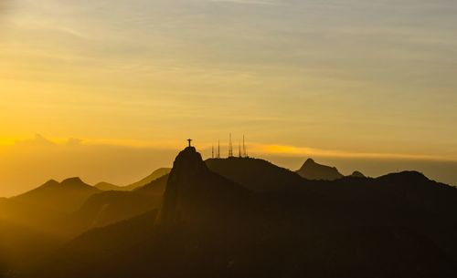
M158 168L171 168L177 153L186 147L186 140L181 141L181 148L174 148L173 144L156 147L159 145L157 142L151 146L142 142L132 147L129 144L90 143L80 139L53 141L37 135L35 139L18 141L15 145L0 146L0 197L35 189L51 179L61 181L71 177L80 177L91 185L104 181L124 186L143 179ZM211 158L211 145L198 140L195 144L205 160ZM367 176L378 177L402 170L418 170L432 180L457 185L457 173L454 171L457 161L452 160L389 156L377 159L369 154L348 157L344 153L335 156L338 154L335 151L326 153L314 149L271 151L281 147L251 142L247 147L251 157L269 160L289 170L298 170L305 160L312 158L318 163L336 167L344 175L360 170ZM235 155L238 155L237 143L234 149ZM221 141L221 157L227 156L227 142Z

